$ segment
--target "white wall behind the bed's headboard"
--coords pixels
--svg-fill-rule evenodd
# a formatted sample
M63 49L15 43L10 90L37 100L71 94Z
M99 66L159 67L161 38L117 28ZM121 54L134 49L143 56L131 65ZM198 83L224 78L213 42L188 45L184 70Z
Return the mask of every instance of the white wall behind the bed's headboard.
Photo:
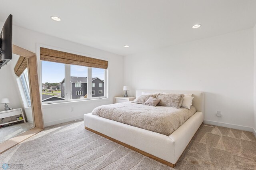
M204 91L207 123L252 131L253 29L152 49L124 63L130 96L136 89Z

